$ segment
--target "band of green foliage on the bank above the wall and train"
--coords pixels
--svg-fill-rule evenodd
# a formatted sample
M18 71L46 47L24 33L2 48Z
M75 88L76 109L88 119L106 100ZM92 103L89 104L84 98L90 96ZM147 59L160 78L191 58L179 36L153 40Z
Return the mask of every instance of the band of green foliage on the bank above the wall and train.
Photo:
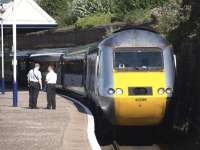
M155 16L153 27L163 34L188 20L190 7L182 0L40 0L40 5L59 26L89 28L114 21L143 24Z

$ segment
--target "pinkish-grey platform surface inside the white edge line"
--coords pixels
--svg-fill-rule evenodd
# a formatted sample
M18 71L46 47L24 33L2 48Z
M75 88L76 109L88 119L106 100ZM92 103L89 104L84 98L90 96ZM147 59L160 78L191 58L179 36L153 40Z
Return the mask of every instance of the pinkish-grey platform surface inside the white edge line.
M0 150L91 150L80 106L57 96L57 109L44 109L43 92L39 109L28 109L27 92L19 93L18 106L12 107L12 93L0 95Z

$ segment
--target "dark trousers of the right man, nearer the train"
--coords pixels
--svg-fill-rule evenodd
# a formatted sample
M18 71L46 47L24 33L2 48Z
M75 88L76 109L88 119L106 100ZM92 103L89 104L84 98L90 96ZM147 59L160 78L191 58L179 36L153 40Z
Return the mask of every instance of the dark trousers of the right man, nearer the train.
M47 84L47 108L56 108L56 85Z

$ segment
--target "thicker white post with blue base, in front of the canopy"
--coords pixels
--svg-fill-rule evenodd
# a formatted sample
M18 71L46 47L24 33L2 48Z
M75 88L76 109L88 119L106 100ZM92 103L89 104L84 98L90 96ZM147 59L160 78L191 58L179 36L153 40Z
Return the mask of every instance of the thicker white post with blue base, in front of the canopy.
M16 4L13 0L13 107L18 106Z

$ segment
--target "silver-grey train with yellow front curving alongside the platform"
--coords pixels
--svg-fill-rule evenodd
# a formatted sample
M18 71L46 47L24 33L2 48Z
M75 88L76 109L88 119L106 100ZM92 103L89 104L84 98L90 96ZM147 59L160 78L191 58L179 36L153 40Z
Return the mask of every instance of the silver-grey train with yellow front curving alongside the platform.
M58 57L46 64L56 64L59 87L87 96L114 125L161 124L174 101L173 49L158 33L124 30Z

